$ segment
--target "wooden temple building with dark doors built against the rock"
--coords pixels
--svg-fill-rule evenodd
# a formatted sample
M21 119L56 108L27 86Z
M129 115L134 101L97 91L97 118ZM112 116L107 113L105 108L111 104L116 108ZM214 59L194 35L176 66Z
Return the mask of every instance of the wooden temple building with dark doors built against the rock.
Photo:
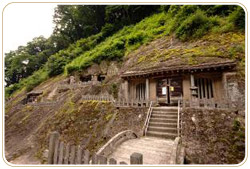
M236 63L218 57L197 57L195 64L183 58L134 66L125 71L122 90L126 100L150 100L162 105L207 101L215 106L228 104L237 93ZM234 87L232 87L232 83Z

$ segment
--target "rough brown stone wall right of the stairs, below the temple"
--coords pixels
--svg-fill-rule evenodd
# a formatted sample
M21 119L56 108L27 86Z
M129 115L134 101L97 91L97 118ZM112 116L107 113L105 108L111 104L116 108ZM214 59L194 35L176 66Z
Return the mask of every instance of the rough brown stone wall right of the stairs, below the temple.
M182 138L189 164L238 164L245 157L244 111L182 110Z

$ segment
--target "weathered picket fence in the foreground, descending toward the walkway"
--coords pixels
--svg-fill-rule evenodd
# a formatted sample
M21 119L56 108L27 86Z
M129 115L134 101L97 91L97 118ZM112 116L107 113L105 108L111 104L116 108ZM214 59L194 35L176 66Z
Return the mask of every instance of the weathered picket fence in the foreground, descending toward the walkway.
M107 159L102 155L94 153L92 156L88 150L83 150L81 146L65 144L59 140L59 133L52 132L49 138L49 154L48 164L61 165L77 165L77 164L91 164L91 165L114 165L118 164L114 158ZM121 161L119 164L126 165L127 163ZM130 156L130 164L143 164L143 156L140 153L133 153Z

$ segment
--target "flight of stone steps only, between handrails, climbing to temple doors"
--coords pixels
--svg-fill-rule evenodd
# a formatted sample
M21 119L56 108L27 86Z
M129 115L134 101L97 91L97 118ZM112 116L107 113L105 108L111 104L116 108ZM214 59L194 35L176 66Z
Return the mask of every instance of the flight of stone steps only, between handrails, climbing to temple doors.
M178 107L153 107L146 136L175 139L177 118Z

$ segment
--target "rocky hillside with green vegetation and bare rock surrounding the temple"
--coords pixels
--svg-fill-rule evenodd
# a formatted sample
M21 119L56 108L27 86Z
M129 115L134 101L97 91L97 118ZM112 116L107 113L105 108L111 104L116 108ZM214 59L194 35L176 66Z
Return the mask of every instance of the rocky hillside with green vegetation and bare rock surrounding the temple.
M171 6L106 37L103 30L53 54L31 76L5 88L7 160L15 163L27 157L30 162L46 162L48 136L55 130L62 140L83 145L91 153L120 131L131 129L141 135L146 108L117 109L110 102L82 99L84 95L117 99L125 72L234 61L244 88L245 31L239 23L244 11L235 7L222 14L209 9ZM97 73L107 75L101 83L77 86L83 77ZM68 85L73 76L76 87ZM42 94L36 103L25 104L29 92Z

